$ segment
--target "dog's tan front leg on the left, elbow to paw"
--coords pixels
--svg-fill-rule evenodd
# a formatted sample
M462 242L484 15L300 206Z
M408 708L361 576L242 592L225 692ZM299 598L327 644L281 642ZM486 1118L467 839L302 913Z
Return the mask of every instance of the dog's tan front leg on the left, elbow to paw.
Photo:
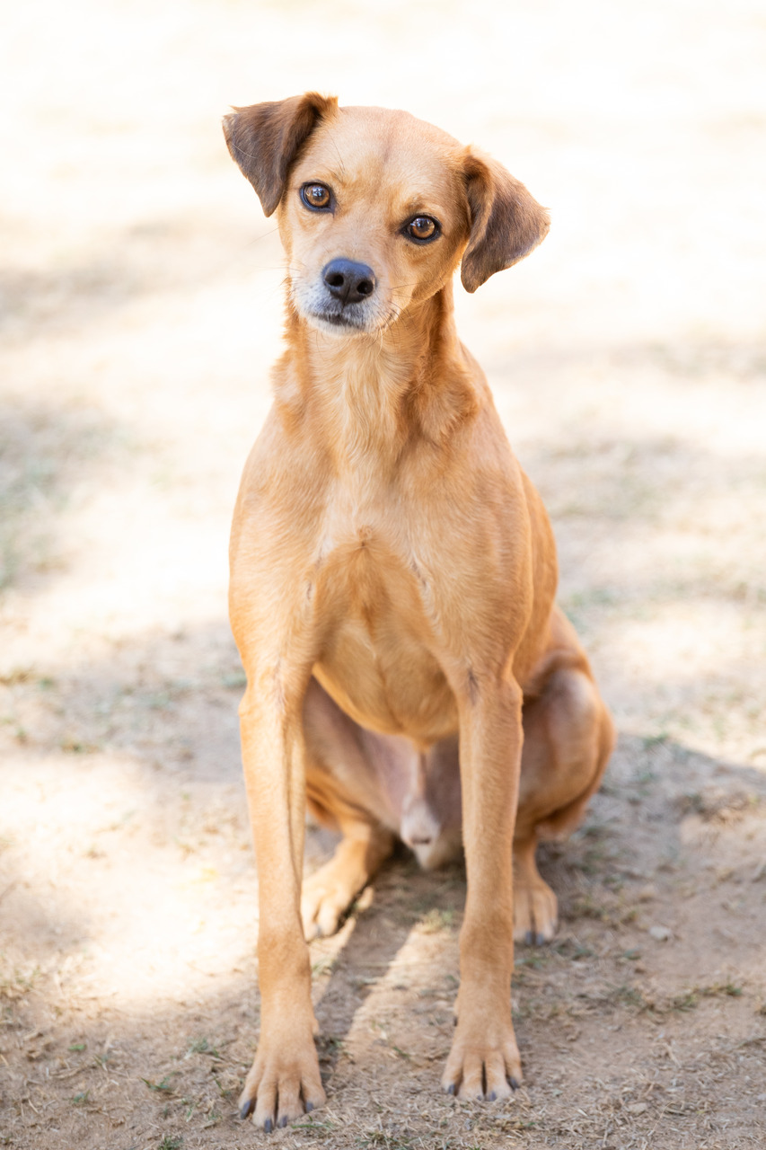
M239 1099L240 1113L267 1132L324 1102L300 919L306 779L302 699L306 674L254 674L239 708L245 784L259 881L261 1034Z

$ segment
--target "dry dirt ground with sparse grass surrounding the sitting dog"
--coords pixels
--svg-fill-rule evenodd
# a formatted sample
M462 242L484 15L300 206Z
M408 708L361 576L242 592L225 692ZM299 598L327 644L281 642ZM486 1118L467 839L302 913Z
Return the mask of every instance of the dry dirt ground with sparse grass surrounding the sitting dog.
M765 60L754 0L3 18L0 1145L764 1145ZM225 552L282 273L219 117L308 87L405 106L552 209L459 324L620 741L543 860L558 938L516 952L519 1094L439 1092L465 874L403 851L312 945L328 1103L267 1136L236 1118L258 923Z

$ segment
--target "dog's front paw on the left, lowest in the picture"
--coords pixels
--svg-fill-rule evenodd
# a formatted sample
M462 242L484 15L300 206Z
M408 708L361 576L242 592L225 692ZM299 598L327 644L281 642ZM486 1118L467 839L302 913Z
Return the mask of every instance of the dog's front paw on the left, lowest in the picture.
M239 1117L253 1116L255 1126L270 1134L324 1103L314 1043L294 1051L259 1044L255 1061L239 1096Z

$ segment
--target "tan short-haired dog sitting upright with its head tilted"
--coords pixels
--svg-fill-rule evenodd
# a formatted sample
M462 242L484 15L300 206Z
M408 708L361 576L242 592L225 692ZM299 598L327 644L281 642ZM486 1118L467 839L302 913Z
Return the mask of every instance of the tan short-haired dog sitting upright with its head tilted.
M537 839L581 818L613 733L553 603L547 516L455 334L452 275L462 261L475 291L547 216L498 163L403 112L308 93L237 109L224 130L288 256L288 347L231 536L262 995L242 1113L270 1130L323 1102L305 934L336 928L395 834L432 865L460 825L443 1084L505 1097L521 1081L514 923L528 941L556 927ZM307 795L343 837L301 923Z

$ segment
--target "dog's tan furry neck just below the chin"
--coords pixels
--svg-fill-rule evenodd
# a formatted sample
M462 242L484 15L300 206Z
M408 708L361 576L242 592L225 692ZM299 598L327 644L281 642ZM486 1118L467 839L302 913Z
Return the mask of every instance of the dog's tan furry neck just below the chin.
M291 312L286 340L277 406L296 431L319 432L337 474L392 468L414 439L445 445L478 408L451 283L374 335L325 335Z

